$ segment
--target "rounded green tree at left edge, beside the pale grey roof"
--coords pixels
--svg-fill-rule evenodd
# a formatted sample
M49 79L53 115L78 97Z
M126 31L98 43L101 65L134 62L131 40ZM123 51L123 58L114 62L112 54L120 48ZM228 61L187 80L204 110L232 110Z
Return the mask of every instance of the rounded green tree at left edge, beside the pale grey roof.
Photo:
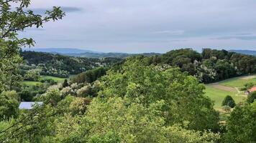
M18 95L14 91L0 94L0 120L17 117L19 112Z

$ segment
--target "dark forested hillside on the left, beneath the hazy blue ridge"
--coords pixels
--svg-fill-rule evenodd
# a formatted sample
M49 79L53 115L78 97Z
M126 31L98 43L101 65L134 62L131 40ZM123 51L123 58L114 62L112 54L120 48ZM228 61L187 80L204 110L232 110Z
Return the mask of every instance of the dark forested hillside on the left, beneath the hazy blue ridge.
M22 51L21 56L25 63L20 66L20 69L29 70L38 67L38 69L42 69L40 74L55 77L68 77L69 74L79 74L98 66L111 66L122 60L117 58L81 58L36 51Z

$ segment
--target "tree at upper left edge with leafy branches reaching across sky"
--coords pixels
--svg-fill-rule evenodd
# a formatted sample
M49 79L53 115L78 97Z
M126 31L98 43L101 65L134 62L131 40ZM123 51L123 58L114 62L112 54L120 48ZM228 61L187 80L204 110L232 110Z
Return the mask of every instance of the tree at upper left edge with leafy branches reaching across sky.
M18 38L18 31L28 27L40 27L47 21L62 19L60 7L53 7L44 16L29 10L30 0L0 0L0 92L17 86L20 80L18 65L23 46L33 46L34 41Z

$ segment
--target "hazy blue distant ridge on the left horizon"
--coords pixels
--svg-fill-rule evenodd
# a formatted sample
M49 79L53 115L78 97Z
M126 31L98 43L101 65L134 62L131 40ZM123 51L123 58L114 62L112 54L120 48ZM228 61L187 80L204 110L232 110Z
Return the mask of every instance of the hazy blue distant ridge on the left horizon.
M102 54L103 52L90 51L86 49L71 49L71 48L26 48L23 51L37 51L37 52L46 52L52 54L81 54L81 53L95 53Z

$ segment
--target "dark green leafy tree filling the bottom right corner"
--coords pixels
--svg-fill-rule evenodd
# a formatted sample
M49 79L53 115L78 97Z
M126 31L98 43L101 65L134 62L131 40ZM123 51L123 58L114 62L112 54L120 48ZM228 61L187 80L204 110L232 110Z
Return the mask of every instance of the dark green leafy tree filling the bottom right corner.
M227 120L227 133L224 142L256 141L256 102L236 107Z

